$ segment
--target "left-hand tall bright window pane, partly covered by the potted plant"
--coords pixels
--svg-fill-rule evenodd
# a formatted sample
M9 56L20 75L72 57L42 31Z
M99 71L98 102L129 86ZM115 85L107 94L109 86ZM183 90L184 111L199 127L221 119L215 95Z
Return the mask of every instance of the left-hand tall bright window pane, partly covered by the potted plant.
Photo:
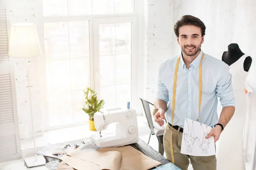
M90 86L89 22L44 23L44 45L49 125L80 122Z

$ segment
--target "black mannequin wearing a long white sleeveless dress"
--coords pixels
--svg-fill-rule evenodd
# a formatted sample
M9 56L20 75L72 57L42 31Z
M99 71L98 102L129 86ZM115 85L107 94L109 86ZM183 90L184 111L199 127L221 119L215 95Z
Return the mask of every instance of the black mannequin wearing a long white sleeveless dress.
M244 54L238 44L230 44L228 51L222 55L222 61L230 66L236 109L221 133L220 139L216 142L217 170L245 170L243 129L247 105L244 83L252 58Z

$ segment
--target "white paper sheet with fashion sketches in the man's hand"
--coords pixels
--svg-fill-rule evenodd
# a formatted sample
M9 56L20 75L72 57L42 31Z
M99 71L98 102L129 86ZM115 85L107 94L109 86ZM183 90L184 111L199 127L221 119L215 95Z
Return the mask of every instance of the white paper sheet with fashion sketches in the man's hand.
M214 137L205 138L212 127L185 119L180 153L191 156L215 155Z

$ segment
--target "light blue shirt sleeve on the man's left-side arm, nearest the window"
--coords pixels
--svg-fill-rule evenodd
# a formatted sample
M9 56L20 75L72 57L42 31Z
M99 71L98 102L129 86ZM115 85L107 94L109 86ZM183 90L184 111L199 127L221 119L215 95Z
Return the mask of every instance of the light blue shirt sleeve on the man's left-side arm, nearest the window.
M169 102L169 92L166 86L163 84L161 81L162 76L164 75L163 73L163 65L160 66L158 69L158 76L157 76L157 97L156 99L161 99L165 101L167 104Z

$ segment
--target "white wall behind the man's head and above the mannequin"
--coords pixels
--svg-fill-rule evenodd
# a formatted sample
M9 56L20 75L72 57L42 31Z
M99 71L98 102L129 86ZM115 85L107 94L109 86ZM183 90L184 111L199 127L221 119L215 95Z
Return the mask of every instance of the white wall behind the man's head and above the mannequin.
M206 25L205 53L218 59L230 43L256 56L256 0L148 0L146 49L146 98L156 94L157 71L160 63L179 54L174 24L182 15L200 18Z

